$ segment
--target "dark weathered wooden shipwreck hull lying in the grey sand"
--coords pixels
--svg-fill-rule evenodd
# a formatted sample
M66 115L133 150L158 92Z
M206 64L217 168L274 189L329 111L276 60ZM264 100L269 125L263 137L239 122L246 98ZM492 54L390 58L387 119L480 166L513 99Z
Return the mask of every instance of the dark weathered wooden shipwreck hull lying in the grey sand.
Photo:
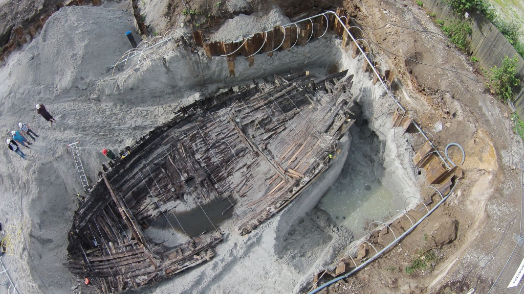
M181 108L104 166L74 215L71 272L100 293L136 288L213 257L223 232L205 212L217 201L241 234L273 216L336 160L354 119L346 72L316 82L307 72L265 78ZM184 230L177 214L192 208L209 232ZM144 234L168 216L183 242Z

